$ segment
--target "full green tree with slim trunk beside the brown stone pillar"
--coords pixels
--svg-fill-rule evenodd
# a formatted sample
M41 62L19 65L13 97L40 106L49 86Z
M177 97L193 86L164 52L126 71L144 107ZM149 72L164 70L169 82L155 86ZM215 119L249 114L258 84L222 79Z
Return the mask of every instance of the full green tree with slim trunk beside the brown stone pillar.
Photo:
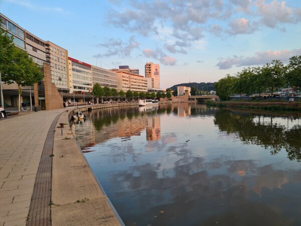
M8 69L9 71L6 71L3 81L7 84L15 82L18 84L20 111L22 86L33 86L38 81L42 81L43 74L28 53L17 47L13 50L13 64L10 64Z

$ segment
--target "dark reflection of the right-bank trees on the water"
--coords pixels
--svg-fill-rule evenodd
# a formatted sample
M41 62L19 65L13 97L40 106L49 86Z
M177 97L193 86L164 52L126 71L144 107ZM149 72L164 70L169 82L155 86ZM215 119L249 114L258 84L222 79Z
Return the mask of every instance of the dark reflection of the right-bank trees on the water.
M273 120L274 119L274 120ZM222 109L214 123L221 131L235 134L243 144L255 144L272 155L285 149L290 160L301 160L301 125L293 116L276 118L265 114L246 114L246 111Z

